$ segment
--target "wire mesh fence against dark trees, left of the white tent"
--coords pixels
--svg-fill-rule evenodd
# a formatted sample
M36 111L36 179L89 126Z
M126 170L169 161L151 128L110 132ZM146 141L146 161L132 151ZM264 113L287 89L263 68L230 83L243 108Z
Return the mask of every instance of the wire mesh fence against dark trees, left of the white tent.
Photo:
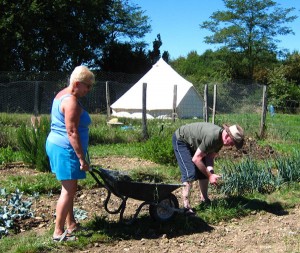
M49 114L56 93L68 85L66 73L0 73L0 112ZM110 100L116 101L141 75L96 73L92 91L82 98L90 113L106 112L106 85L109 83Z

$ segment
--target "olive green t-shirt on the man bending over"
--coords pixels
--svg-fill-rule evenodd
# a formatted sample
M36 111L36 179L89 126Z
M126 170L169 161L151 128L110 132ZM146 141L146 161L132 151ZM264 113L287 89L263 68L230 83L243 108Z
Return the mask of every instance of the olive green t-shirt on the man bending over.
M197 122L181 126L175 131L176 138L189 144L196 152L199 148L207 154L217 153L223 146L223 128L212 123Z

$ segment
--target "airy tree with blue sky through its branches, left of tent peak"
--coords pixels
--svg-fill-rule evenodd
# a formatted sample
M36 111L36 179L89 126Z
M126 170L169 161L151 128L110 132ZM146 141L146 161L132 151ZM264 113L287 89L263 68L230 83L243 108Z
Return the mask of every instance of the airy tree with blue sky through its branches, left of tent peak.
M115 0L109 8L109 18L102 25L106 41L97 59L101 70L124 73L145 73L149 60L143 37L150 32L148 16L127 0Z

